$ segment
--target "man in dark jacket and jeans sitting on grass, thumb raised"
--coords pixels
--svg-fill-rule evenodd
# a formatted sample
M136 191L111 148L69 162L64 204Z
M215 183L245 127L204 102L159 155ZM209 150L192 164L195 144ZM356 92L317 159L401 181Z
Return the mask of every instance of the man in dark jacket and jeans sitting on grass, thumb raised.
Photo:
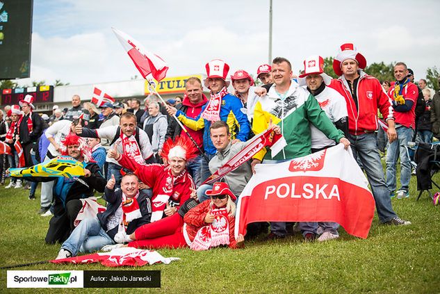
M147 224L152 216L150 196L139 190L136 174L122 177L121 189L115 188L115 176L108 180L104 199L107 209L96 218L86 218L63 243L56 259L76 256L78 252L93 252L105 245L115 244L118 232L132 234Z

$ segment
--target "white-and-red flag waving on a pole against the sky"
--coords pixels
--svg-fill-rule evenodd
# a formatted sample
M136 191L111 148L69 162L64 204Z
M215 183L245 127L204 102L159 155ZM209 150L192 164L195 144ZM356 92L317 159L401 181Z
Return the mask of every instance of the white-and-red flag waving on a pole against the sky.
M147 79L149 74L152 74L156 81L161 81L165 78L168 66L162 58L145 50L138 41L126 33L116 28L112 28L112 30L144 79Z

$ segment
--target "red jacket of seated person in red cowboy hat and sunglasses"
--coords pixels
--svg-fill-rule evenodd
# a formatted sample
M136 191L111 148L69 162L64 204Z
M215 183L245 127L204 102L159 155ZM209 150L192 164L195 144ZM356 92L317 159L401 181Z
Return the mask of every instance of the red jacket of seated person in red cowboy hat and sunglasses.
M195 206L193 209L190 209L185 216L184 222L186 223L186 232L188 233L188 237L190 241L193 242L197 231L201 227L206 226L205 217L206 214L209 213L211 204L211 199L205 200L201 204ZM234 227L235 227L235 216L229 216L229 248L237 248L237 243L234 237Z

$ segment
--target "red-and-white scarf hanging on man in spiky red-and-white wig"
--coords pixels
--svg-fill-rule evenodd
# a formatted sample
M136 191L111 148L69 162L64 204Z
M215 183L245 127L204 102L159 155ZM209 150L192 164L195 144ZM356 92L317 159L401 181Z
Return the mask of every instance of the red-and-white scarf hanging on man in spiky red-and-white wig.
M184 172L179 174L177 177L174 177L172 175L170 168L168 168L168 171L165 170L165 172L167 172L167 177L165 179L164 185L162 186L162 190L152 199L152 218L150 220L151 222L161 220L163 216L163 211L165 210L168 204L168 200L173 193L174 182L186 176L186 170L184 170Z

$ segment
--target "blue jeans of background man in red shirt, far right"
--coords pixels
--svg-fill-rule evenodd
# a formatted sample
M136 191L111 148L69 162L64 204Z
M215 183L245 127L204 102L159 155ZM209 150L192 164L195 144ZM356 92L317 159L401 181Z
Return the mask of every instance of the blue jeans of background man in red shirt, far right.
M414 130L406 126L396 128L397 140L388 145L386 149L386 186L390 192L396 190L396 166L400 155L400 185L402 190L409 189L411 180L411 163L407 149L408 142L412 140Z

